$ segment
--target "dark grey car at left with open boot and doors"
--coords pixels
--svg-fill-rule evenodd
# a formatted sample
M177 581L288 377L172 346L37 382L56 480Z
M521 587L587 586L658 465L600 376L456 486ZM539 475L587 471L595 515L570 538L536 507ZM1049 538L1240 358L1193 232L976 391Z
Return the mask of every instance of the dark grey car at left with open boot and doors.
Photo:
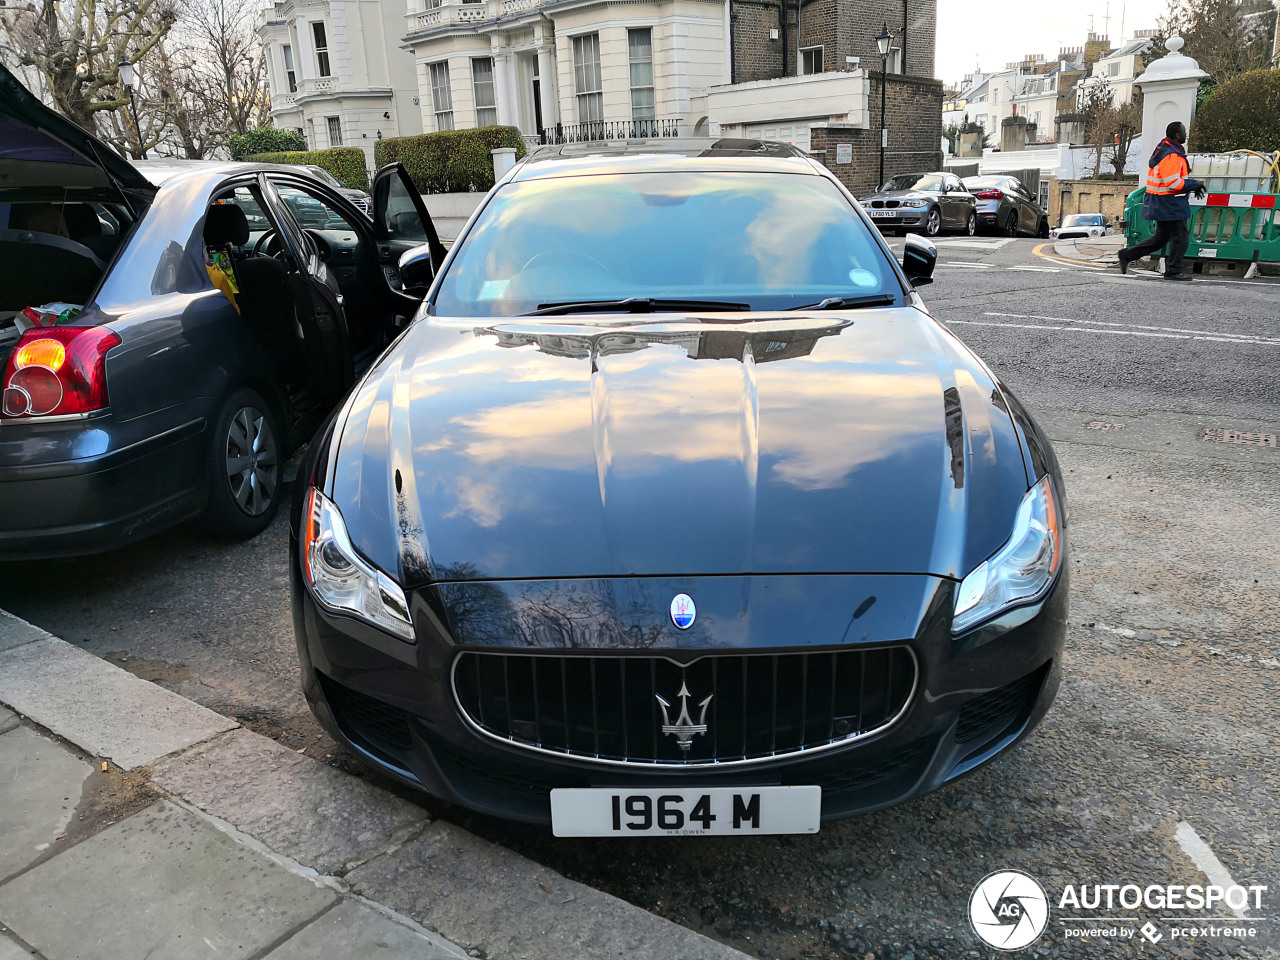
M289 451L421 298L396 257L430 218L399 168L375 192L371 223L289 168L143 174L0 68L0 559L262 530Z

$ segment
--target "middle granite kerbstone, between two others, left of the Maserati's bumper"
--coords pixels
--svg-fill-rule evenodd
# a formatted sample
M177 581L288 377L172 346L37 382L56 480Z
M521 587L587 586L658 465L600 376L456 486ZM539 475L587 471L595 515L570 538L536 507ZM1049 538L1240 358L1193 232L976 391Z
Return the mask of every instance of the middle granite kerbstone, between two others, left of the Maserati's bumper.
M339 872L429 819L407 800L248 730L165 760L151 776L320 873Z

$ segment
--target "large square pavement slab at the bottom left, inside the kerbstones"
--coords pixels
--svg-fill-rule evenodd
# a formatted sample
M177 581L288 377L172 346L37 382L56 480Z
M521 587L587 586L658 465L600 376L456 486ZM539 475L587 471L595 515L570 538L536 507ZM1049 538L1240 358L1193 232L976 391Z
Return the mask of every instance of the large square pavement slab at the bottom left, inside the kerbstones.
M160 801L0 886L0 920L50 960L241 960L335 900Z

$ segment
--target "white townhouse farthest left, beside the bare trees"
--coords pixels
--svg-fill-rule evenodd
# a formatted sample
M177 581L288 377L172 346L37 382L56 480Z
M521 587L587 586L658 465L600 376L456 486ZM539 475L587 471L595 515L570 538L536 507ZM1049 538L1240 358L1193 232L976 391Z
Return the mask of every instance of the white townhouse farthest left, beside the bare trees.
M280 0L262 10L271 122L308 150L360 147L422 132L403 14L389 0Z

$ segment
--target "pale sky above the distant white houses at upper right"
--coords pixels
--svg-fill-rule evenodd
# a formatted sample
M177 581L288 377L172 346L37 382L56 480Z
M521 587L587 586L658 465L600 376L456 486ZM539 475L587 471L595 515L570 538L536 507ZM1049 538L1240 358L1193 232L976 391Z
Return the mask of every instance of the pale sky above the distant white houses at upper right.
M1111 14L1110 24L1106 22ZM1059 47L1084 46L1093 29L1119 45L1124 35L1155 27L1169 0L938 0L936 77L959 83L974 67L1002 69L1027 54L1053 56Z

